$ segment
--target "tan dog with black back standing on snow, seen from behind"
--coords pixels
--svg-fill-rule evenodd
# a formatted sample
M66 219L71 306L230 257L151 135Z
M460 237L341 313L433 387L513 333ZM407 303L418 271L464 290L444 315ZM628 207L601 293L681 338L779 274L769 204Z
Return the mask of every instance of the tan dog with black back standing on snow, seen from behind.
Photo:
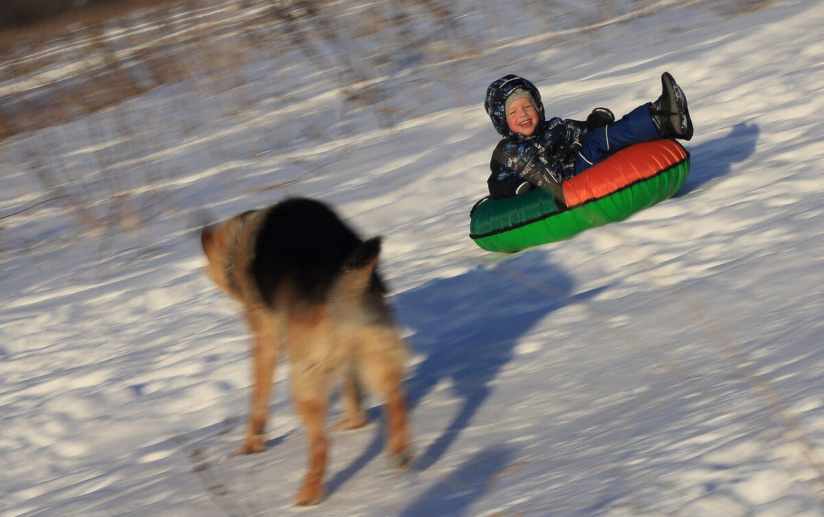
M313 505L324 496L324 419L336 380L344 407L338 427L366 425L363 385L385 401L387 452L396 467L408 468L406 352L375 269L381 238L360 240L325 204L288 198L205 227L201 243L208 277L241 303L251 332L253 388L237 454L265 449L272 374L283 350L308 445L294 504Z

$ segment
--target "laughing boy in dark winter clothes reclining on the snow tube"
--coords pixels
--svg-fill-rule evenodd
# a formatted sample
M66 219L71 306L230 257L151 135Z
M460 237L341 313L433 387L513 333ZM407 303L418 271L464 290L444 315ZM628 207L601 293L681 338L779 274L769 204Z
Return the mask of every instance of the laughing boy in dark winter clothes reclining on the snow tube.
M533 186L552 193L565 206L561 182L634 143L661 138L690 140L693 128L686 96L669 72L662 94L616 121L606 108L592 110L585 122L545 120L541 94L523 77L508 75L489 85L484 107L503 136L492 153L489 194L493 199L527 192Z

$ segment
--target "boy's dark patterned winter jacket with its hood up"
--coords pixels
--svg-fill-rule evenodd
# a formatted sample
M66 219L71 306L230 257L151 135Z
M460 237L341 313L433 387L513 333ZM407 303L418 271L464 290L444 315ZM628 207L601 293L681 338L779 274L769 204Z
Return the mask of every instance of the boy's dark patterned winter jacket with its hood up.
M538 123L531 135L513 133L507 125L506 101L519 88L528 91L536 102ZM588 133L587 123L559 117L545 120L538 89L527 79L513 74L489 85L484 107L495 130L503 137L489 163L492 174L487 184L491 197L513 196L517 185L528 181L555 194L563 203L560 184L575 175L575 158Z

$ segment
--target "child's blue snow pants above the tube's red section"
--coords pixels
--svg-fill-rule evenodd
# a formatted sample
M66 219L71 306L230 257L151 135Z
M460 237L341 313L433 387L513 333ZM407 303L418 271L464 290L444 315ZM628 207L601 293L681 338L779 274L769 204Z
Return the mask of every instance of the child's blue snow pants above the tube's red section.
M624 147L662 138L649 114L649 104L640 105L619 120L593 129L587 135L578 151L578 158L575 159L575 174L606 160Z

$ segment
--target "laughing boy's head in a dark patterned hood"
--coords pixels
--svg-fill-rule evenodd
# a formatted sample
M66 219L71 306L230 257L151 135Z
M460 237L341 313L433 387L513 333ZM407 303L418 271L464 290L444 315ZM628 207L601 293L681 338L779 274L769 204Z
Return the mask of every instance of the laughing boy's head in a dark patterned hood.
M484 107L495 130L503 137L531 136L544 121L544 105L538 89L513 74L489 85Z

